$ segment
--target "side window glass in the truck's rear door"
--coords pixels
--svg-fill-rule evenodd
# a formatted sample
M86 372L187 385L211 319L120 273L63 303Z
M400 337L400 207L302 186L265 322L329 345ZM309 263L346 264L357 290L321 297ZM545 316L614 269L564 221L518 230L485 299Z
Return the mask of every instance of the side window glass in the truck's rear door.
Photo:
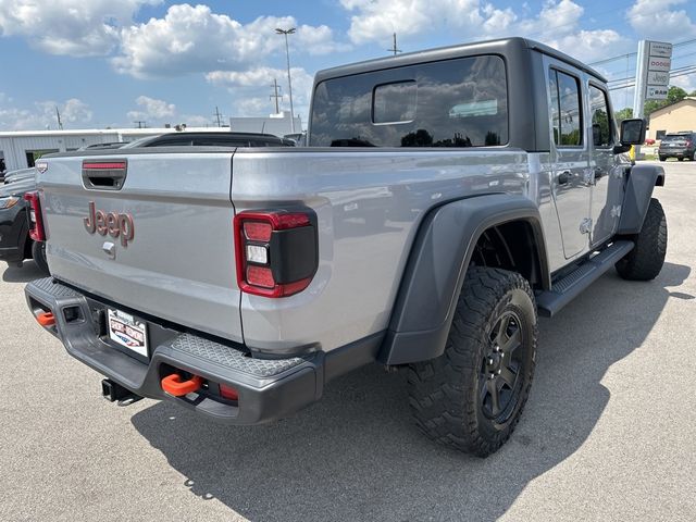
M580 80L551 69L549 72L549 107L554 142L559 147L583 145Z

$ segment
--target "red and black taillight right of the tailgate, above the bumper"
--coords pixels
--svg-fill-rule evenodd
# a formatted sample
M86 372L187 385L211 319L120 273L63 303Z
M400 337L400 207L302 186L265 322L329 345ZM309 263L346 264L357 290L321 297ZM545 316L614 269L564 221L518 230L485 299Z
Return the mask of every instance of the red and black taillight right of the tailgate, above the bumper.
M313 213L241 212L235 216L237 284L247 294L288 297L307 288L316 272Z

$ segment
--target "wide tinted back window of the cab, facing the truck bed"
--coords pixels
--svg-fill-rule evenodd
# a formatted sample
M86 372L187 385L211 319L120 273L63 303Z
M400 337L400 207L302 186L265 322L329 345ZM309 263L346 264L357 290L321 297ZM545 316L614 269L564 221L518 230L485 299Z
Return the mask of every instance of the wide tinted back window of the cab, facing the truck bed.
M315 147L484 147L508 142L500 57L470 57L322 82Z

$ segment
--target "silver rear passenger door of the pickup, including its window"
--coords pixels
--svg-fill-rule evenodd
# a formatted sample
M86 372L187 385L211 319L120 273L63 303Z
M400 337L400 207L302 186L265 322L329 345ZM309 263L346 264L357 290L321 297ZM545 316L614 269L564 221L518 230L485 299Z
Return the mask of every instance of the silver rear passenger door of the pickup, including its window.
M551 192L563 239L566 259L588 247L592 184L585 136L583 89L579 72L545 57L548 77Z

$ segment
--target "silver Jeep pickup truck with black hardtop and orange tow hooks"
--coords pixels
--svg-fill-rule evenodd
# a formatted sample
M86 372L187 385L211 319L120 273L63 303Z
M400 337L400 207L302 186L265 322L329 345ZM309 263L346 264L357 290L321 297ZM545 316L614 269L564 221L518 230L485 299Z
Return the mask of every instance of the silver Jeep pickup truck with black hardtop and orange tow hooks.
M537 316L611 266L661 270L659 166L632 165L600 74L522 38L322 71L307 148L59 153L29 196L51 277L28 307L103 394L231 424L337 375L408 372L418 426L512 433ZM566 320L571 320L566 318Z

